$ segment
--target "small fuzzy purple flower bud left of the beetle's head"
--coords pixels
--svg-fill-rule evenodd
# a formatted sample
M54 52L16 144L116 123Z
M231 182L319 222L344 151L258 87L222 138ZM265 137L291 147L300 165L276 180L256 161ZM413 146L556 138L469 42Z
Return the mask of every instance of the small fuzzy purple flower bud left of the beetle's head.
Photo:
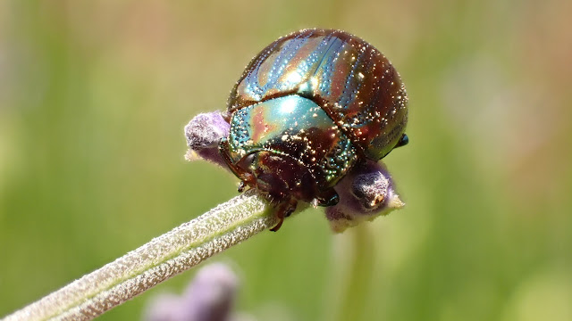
M199 114L185 126L185 137L189 152L185 155L188 161L198 158L212 161L226 169L226 163L218 152L218 142L229 136L231 125L223 118L220 111Z

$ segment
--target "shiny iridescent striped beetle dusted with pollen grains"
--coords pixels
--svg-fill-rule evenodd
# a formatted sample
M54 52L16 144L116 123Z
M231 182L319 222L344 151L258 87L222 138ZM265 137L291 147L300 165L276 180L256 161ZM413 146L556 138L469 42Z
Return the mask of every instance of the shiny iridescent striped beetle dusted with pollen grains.
M267 45L231 90L228 137L218 150L240 178L277 206L333 206L333 187L363 161L408 144L408 97L373 45L335 29L303 29Z

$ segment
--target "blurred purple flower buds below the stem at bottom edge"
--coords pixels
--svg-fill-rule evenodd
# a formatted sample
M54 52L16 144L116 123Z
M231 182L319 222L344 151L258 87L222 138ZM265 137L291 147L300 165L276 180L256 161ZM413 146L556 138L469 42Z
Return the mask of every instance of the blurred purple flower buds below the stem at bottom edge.
M148 321L229 320L238 277L222 263L201 268L182 296L164 294L147 310Z

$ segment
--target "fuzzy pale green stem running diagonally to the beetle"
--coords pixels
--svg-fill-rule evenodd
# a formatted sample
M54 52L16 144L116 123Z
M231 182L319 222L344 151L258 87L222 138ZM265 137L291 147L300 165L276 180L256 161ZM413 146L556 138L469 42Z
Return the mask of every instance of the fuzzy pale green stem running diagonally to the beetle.
M244 193L4 320L90 320L276 223L264 198Z

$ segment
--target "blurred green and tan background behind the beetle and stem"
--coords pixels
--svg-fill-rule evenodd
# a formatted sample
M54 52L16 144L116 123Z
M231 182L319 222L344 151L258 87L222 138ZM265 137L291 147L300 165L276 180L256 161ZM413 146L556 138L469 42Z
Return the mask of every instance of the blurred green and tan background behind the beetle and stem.
M572 319L572 2L0 1L0 316L236 195L183 160L265 45L345 29L410 97L404 210L319 210L214 260L258 320ZM157 292L101 317L139 319ZM360 281L361 277L361 281ZM364 282L364 279L367 281Z

